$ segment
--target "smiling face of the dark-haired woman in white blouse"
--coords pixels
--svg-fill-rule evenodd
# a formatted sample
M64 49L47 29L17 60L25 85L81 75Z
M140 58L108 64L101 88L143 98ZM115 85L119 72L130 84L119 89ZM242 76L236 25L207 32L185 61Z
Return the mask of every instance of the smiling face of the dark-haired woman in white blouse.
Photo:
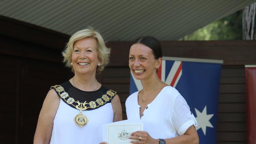
M156 73L158 60L149 47L137 43L130 48L129 67L136 79L147 79Z

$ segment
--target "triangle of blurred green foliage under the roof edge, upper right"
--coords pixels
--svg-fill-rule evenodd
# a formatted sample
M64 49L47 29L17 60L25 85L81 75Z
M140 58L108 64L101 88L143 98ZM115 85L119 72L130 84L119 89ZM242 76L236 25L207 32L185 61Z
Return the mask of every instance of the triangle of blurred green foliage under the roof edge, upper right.
M221 20L208 24L180 40L208 41L239 39L243 39L242 11L237 11Z

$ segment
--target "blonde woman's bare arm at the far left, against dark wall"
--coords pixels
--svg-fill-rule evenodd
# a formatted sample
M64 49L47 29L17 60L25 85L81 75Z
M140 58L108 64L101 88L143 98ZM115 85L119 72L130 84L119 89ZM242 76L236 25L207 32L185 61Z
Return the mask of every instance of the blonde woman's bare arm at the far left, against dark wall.
M51 89L45 97L40 111L37 128L35 130L34 144L49 144L52 135L53 121L59 107L60 98Z

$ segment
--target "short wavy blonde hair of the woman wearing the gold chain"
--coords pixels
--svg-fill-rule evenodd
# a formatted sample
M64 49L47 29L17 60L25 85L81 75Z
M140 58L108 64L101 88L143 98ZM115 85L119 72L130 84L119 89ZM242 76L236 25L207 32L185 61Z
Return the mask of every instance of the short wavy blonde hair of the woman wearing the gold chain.
M88 27L87 29L77 31L74 33L67 43L65 50L62 52L62 55L64 57L63 63L68 68L72 68L72 52L73 52L73 45L74 42L86 38L86 37L94 37L97 41L97 52L98 52L98 59L100 61L100 66L97 66L96 72L100 73L102 70L104 70L104 67L108 65L109 63L109 55L110 55L110 48L107 48L105 45L105 42L100 35L100 33L96 30L94 30L92 27ZM72 72L74 72L74 69L72 68Z

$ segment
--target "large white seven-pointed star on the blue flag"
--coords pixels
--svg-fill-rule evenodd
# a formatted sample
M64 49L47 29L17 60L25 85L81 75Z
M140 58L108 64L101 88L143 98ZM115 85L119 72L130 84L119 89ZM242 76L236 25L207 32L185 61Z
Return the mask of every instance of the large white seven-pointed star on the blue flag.
M214 114L207 114L206 106L204 107L204 110L202 111L202 113L200 111L198 111L196 108L195 108L195 111L196 111L196 114L197 114L197 117L196 117L197 127L196 127L196 129L198 130L198 129L202 128L202 131L203 131L204 135L206 135L206 127L213 127L209 120L211 119L211 117Z

